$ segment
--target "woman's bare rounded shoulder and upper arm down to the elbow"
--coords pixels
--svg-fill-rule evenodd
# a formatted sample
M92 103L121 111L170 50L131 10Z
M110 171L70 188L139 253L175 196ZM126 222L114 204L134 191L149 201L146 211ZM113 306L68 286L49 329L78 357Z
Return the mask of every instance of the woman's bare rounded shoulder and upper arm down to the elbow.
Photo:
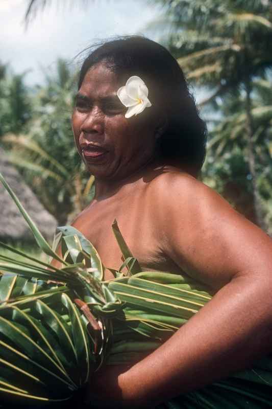
M272 269L272 240L201 181L170 171L152 180L150 194L160 245L187 274L218 289Z

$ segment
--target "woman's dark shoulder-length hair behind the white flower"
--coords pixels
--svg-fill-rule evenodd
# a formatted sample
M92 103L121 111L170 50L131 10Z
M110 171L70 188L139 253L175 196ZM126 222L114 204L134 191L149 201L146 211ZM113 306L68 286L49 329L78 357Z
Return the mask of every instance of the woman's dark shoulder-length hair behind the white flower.
M178 159L197 174L205 158L207 128L177 60L160 44L145 37L119 37L104 42L88 55L81 67L79 88L90 67L101 61L125 82L131 75L143 79L149 88L152 108L165 113L167 118L158 140L160 155Z

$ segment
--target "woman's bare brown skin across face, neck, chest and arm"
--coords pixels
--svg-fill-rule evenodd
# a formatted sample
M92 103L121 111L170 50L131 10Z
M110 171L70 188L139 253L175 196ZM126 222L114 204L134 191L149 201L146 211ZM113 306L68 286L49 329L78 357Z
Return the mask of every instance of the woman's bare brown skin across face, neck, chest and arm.
M85 160L96 194L73 225L107 267L118 268L121 254L111 231L116 218L144 269L183 271L216 292L148 357L131 368L106 368L90 381L86 399L97 407L154 407L272 352L272 241L207 186L154 160L156 122L126 119L118 101L115 110L105 108L104 98L116 96L121 85L99 63L79 90L89 99L72 117L79 152L100 144L108 153Z

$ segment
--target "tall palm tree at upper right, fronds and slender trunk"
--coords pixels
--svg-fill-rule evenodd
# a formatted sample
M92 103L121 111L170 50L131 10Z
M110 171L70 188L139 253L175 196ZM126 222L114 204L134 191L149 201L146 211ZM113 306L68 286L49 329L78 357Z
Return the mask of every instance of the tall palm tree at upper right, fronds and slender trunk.
M252 176L257 219L263 226L263 212L256 182L254 152L255 124L252 114L252 82L272 65L271 0L161 0L174 20L176 31L168 39L187 78L212 89L224 98L230 90L245 95L244 122L247 160Z

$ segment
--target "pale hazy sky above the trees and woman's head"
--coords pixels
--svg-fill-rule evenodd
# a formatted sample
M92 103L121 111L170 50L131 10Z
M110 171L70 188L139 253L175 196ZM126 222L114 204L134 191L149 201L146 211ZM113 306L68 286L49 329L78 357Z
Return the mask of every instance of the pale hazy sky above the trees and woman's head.
M53 0L26 29L23 17L29 0L0 0L0 61L16 74L27 71L28 85L42 83L43 70L54 70L58 57L71 62L96 40L146 34L146 25L160 12L147 3L86 0L83 6L78 0ZM155 35L149 37L156 40Z

